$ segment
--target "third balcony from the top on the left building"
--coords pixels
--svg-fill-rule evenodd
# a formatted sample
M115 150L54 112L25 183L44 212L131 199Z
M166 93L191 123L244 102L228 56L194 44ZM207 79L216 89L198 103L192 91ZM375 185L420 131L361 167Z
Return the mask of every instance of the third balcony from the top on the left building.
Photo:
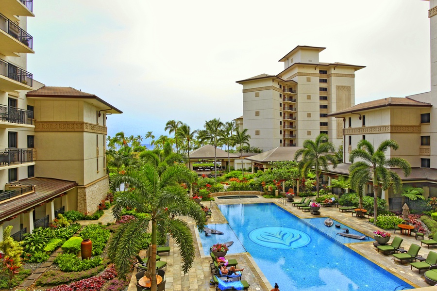
M0 59L0 88L4 92L32 90L33 75Z

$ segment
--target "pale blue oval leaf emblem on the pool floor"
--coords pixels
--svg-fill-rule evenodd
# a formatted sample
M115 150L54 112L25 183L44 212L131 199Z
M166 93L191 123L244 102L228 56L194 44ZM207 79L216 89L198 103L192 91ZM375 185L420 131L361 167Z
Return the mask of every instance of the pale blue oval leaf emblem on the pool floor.
M283 227L260 227L249 233L252 242L274 249L294 249L307 245L311 237L303 231Z

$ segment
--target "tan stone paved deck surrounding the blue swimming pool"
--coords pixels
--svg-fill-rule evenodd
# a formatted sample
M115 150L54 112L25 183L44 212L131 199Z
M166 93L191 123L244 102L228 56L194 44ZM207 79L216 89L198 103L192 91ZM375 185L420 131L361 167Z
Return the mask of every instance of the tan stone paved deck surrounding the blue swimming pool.
M280 207L288 210L299 218L314 218L314 217L331 217L332 219L341 222L342 224L349 226L350 228L356 229L365 235L373 237L373 231L379 229L368 223L368 218L357 218L355 215L352 216L351 212L341 212L335 206L332 207L321 207L320 215L312 215L310 212L303 212L297 207L293 207L291 203L281 204L278 203L278 199L266 199L260 196L260 198L244 198L244 199L229 199L229 200L218 200L210 202L202 202L203 205L212 208L212 216L208 219L209 224L215 223L227 223L224 216L221 214L220 210L217 207L217 204L250 204L250 203L266 203L273 202L279 205ZM211 207L210 207L211 206ZM215 290L213 286L209 285L209 280L211 279L211 272L209 268L210 257L203 255L203 252L200 251L202 248L202 243L197 230L195 230L195 226L190 219L186 219L189 223L193 237L196 245L196 259L194 261L193 267L187 275L184 275L181 272L180 266L180 256L177 246L170 239L170 255L166 254L160 255L161 260L167 261L167 271L165 275L166 282L166 291L203 291L203 290ZM420 245L420 240L415 240L414 236L406 236L401 235L400 233L393 233L393 230L389 231L392 236L399 236L403 238L402 246L405 249L408 249L412 243L416 243ZM378 253L376 247L373 246L372 242L359 241L357 243L348 244L348 247L358 252L362 256L370 259L375 264L381 266L387 271L391 272L394 275L401 277L406 280L410 285L419 288L417 290L420 291L431 291L436 290L436 287L431 287L424 280L423 271L419 275L419 271L417 269L410 269L410 264L404 262L401 264L399 261L394 262L393 256L391 255L383 255L382 253ZM419 254L422 257L426 257L429 251L437 251L436 247L431 247L428 249L426 246L423 246ZM145 256L145 250L140 252L140 256ZM244 254L236 254L236 255L228 255L226 256L228 259L236 259L238 261L238 268L245 268L243 271L243 280L248 281L251 285L249 290L263 290L269 291L273 287L269 284L266 277L262 274L261 270L258 268L254 260L252 259L249 253ZM136 272L134 272L135 274ZM359 273L359 266L357 266L357 273ZM277 282L280 285L281 278L278 278ZM131 283L129 285L128 291L136 291L136 279L133 275L131 279Z

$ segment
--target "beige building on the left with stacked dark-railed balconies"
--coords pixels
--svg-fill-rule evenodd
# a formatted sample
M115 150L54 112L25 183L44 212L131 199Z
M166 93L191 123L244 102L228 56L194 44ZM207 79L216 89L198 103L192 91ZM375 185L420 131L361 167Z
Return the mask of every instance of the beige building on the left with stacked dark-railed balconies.
M67 210L93 213L109 189L106 114L122 113L71 87L46 87L27 71L34 53L32 0L0 5L0 240L17 240Z

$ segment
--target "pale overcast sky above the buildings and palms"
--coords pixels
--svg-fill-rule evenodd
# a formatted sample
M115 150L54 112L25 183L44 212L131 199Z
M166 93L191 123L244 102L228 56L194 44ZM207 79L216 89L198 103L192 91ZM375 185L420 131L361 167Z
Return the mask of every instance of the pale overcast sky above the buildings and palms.
M28 71L47 86L101 97L123 114L108 134L168 120L202 129L243 114L235 81L283 70L298 45L320 62L365 65L355 103L430 90L429 2L420 0L34 1Z

